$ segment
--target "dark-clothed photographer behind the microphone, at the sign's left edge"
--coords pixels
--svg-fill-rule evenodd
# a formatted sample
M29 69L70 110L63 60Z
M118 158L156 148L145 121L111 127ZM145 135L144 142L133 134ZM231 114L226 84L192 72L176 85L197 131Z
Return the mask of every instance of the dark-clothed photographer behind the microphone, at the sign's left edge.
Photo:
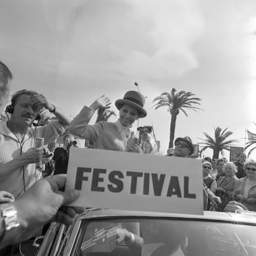
M71 134L65 134L63 137L64 145L62 148L56 148L54 151L53 160L55 161L55 171L56 174L66 174L67 173L67 163L69 161L69 150L71 147L77 147L77 141L75 137Z

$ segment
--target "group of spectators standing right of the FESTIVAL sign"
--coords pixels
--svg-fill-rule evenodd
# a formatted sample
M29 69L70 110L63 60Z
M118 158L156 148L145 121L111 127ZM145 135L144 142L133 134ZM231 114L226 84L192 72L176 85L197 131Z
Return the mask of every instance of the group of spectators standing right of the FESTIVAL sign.
M207 160L207 161L205 161ZM235 200L244 209L256 210L256 161L246 160L241 153L239 160L228 162L226 158L218 160L207 157L203 160L203 181L218 197L221 203L214 210L224 211L229 202Z

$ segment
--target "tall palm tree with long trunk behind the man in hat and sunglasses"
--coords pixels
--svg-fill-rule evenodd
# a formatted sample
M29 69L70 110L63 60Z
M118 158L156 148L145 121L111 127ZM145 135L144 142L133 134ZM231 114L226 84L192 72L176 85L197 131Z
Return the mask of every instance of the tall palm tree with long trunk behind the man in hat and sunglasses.
M158 109L162 106L167 106L168 111L171 114L169 148L173 148L176 119L179 112L182 111L187 116L185 109L192 109L194 111L201 109L193 106L200 105L201 100L200 98L194 98L195 95L193 93L185 91L176 92L176 89L173 88L171 93L161 93L160 96L153 100L153 103L155 103L155 105L153 105L155 109Z

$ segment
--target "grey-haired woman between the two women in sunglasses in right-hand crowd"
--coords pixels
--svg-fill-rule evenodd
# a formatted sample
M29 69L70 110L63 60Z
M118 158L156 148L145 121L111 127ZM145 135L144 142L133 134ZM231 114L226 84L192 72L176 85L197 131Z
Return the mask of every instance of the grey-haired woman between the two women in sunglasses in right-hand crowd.
M237 168L234 163L225 163L223 166L225 176L220 177L217 181L216 195L221 198L219 210L223 211L226 204L231 200L232 193L237 181Z

